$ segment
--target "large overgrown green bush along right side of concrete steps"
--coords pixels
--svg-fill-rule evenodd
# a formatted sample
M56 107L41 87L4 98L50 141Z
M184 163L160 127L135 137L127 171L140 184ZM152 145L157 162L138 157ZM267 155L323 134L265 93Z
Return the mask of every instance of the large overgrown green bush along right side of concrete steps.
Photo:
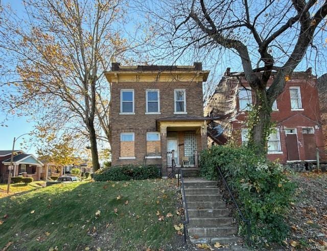
M206 179L219 178L217 166L227 180L245 218L251 221L251 239L256 245L281 243L288 234L285 221L294 192L281 164L258 156L247 147L215 146L202 151L200 175ZM241 231L246 226L240 222Z

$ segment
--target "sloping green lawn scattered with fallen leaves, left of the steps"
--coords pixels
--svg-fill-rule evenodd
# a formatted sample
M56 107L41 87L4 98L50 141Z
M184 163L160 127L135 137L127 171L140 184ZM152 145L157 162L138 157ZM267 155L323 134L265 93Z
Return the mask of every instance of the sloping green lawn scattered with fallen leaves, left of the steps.
M178 238L177 200L167 180L58 184L2 198L0 249L12 242L9 250L167 250Z

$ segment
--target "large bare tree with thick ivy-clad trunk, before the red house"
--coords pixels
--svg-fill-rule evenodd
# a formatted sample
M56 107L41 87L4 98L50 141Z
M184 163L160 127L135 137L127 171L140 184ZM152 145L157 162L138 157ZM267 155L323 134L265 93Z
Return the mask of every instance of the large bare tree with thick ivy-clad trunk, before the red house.
M309 57L316 57L324 43L327 1L167 0L138 5L149 13L149 23L158 34L151 46L160 48L161 54L156 54L162 58L168 53L179 60L190 49L202 58L217 57L214 53L237 55L255 95L249 142L266 149L274 100L308 48L314 54ZM266 90L272 71L277 74Z

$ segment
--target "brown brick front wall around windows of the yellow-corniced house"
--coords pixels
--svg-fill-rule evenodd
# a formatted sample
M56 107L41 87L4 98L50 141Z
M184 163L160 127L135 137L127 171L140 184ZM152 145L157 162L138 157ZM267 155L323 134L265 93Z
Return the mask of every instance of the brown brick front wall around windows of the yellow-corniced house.
M134 89L135 115L119 115L120 90ZM161 114L146 115L146 90L159 89ZM186 90L186 112L190 116L203 116L202 82L113 82L111 84L112 165L126 163L161 164L161 159L145 159L147 132L156 132L156 119L174 116L174 89ZM120 133L135 133L134 160L120 160ZM164 158L165 138L161 135L161 152ZM166 140L167 144L167 140ZM164 162L165 160L162 160Z

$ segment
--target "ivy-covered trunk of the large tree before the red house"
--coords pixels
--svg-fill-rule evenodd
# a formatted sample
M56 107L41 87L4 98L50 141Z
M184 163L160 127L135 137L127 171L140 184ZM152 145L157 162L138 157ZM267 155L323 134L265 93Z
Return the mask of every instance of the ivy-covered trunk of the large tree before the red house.
M258 154L266 154L273 102L268 99L265 86L255 89L254 94L255 104L248 116L249 143L257 150Z

